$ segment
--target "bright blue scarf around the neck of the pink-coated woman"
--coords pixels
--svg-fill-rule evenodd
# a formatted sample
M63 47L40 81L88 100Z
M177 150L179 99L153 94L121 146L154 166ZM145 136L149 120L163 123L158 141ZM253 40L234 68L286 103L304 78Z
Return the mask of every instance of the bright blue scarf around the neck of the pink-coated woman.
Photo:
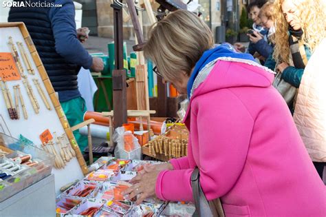
M193 72L191 73L191 76L189 78L187 84L188 99L190 99L191 88L193 87L193 83L195 82L195 79L200 70L202 70L205 65L219 57L232 57L254 61L254 57L251 54L239 53L229 43L222 43L221 45L217 45L217 47L213 49L206 50L202 57L199 59L199 61L197 61L195 68L193 69Z

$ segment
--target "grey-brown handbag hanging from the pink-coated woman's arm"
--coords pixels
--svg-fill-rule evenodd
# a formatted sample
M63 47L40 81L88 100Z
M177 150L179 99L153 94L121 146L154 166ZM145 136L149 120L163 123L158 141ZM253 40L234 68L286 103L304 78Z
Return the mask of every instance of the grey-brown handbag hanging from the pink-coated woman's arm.
M193 188L193 199L196 211L193 216L199 217L224 217L223 207L219 198L208 201L199 183L199 169L196 167L191 174L191 187Z

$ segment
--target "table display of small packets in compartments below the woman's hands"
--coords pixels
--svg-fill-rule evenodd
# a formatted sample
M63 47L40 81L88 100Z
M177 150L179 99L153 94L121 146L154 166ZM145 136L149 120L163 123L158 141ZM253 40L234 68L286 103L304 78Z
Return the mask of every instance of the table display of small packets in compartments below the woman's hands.
M96 161L98 170L65 190L56 199L58 216L192 216L195 207L189 203L168 203L146 198L135 205L134 198L122 196L122 191L144 165L159 161L122 160L102 157Z

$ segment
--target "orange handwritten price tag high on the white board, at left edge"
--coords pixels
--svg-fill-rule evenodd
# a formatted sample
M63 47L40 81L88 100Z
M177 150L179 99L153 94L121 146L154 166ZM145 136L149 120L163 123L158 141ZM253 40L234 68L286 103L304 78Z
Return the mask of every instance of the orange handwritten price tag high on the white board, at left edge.
M21 79L11 53L0 53L0 77L3 81Z

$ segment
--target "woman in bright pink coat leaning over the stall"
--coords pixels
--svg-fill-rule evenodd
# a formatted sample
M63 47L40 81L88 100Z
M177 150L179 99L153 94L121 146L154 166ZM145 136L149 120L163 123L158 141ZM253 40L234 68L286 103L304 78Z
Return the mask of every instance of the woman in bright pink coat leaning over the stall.
M197 166L206 198L221 198L226 216L326 216L325 185L273 72L228 45L214 48L208 26L183 10L151 28L144 54L188 94L188 155L146 167L124 194L191 201Z

